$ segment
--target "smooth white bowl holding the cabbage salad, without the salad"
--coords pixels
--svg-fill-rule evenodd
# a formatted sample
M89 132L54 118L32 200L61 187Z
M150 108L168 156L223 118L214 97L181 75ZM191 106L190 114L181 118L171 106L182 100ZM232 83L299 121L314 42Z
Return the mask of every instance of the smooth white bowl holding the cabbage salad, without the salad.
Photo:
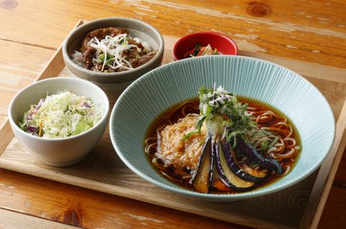
M39 99L46 97L47 93L55 94L62 90L90 97L95 103L100 103L104 108L104 115L98 124L80 135L62 139L36 137L17 126L24 112L30 109L30 105L37 104ZM98 86L84 79L67 77L45 79L27 86L15 95L8 109L8 117L15 137L30 152L50 166L71 166L84 159L104 134L108 114L107 95Z

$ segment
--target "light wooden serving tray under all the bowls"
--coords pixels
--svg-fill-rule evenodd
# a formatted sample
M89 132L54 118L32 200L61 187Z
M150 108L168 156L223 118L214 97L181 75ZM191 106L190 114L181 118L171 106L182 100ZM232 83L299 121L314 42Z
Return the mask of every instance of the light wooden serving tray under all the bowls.
M80 20L76 26L82 23ZM173 61L172 47L176 41L174 37L164 38L163 64ZM291 188L231 203L176 195L131 172L116 155L108 128L86 159L75 166L55 168L42 163L21 146L13 137L8 120L0 127L0 168L255 228L316 228L346 145L346 70L242 50L239 54L272 61L302 74L325 95L338 120L336 139L327 159L319 170ZM51 77L75 77L64 66L61 47L36 80ZM118 93L113 92L112 86L99 86L106 91L113 106Z

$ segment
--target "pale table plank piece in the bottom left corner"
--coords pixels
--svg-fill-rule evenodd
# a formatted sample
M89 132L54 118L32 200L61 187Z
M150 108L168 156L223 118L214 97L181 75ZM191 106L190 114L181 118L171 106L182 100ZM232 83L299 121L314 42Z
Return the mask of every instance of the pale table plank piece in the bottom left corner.
M0 208L0 228L73 229L76 227Z

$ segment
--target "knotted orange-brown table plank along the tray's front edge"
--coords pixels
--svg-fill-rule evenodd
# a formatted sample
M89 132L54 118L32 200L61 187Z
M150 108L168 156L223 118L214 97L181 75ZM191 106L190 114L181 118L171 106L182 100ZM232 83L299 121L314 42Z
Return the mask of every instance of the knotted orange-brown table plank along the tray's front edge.
M85 228L246 228L3 169L0 193L3 209Z

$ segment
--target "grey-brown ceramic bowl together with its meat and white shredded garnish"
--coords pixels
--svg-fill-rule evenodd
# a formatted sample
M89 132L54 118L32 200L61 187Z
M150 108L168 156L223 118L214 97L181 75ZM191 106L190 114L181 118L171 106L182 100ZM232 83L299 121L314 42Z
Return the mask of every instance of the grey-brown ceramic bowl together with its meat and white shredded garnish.
M62 45L66 67L76 76L111 83L120 94L132 81L161 65L163 37L149 24L125 17L81 23Z

